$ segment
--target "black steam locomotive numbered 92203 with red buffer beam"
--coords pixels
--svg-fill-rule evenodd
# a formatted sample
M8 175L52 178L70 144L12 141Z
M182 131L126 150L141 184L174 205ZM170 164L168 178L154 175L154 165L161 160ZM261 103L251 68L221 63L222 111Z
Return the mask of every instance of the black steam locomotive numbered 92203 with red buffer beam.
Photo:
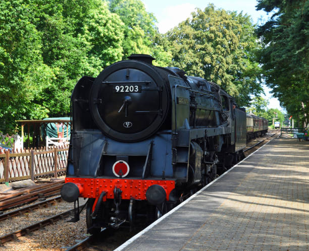
M90 233L159 218L246 146L246 113L232 96L153 59L132 54L74 88L61 194L68 202L89 198Z

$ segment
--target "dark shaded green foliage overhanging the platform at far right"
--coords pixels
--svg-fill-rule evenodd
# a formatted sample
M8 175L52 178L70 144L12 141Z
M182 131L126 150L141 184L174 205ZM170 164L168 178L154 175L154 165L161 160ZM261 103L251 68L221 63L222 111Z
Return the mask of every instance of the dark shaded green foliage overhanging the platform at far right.
M259 0L258 10L275 14L256 32L264 47L260 62L266 84L289 114L308 123L309 1Z

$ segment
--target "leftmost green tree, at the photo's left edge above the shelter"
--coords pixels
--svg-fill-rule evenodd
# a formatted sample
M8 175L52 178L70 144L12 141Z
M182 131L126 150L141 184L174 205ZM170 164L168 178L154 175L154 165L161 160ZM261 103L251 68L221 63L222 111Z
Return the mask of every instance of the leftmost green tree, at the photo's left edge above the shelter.
M48 109L33 103L50 85L53 71L43 64L41 36L31 1L0 2L0 130L13 130L15 119L40 118Z

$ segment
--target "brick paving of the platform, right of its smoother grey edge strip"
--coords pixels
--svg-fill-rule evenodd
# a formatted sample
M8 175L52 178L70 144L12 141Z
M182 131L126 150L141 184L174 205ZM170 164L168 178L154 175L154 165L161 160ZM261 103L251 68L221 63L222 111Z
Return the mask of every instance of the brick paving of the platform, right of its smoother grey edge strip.
M254 169L182 250L308 250L308 150L306 142L277 139L256 152Z

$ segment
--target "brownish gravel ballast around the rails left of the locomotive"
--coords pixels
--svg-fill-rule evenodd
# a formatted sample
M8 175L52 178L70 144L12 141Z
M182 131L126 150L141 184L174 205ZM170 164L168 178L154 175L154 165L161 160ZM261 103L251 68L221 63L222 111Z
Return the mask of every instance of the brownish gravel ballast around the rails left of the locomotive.
M80 199L80 205L86 201ZM46 208L36 209L31 213L16 216L0 222L0 235L8 234L56 214L73 209L74 203L60 202ZM52 225L43 227L21 236L16 240L6 242L0 247L5 250L65 250L84 239L86 234L85 210L80 215L78 222L67 222L72 216L59 220Z

